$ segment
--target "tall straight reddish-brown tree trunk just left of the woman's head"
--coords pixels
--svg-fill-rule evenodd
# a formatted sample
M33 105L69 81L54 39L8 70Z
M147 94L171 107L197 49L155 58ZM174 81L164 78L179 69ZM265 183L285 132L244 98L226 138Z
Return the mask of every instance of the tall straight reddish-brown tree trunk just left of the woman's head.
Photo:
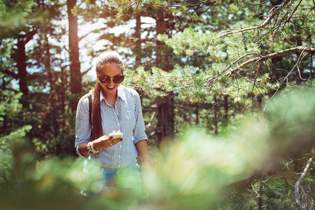
M69 20L70 91L72 94L80 94L82 92L82 76L78 49L78 17L71 13L71 9L76 6L76 0L67 0L66 5ZM75 111L78 100L76 97L71 97L70 100L71 111Z

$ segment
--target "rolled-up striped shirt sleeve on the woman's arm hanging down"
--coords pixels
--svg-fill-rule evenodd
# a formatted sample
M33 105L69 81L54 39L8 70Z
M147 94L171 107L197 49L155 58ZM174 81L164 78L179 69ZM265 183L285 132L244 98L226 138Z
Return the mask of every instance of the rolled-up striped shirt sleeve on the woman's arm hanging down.
M141 109L141 101L139 94L134 91L133 94L134 102L136 104L134 116L136 118L136 125L134 126L133 130L133 137L134 137L134 144L137 144L140 140L147 140L148 137L146 136L146 127L144 126L144 116L142 116L142 109Z

